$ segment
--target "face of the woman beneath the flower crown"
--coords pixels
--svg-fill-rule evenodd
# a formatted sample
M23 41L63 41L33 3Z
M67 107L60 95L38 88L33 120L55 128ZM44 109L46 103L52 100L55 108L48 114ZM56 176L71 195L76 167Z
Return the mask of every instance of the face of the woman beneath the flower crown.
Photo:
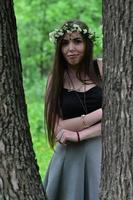
M70 66L80 64L85 53L85 42L79 32L66 33L62 40L62 54Z

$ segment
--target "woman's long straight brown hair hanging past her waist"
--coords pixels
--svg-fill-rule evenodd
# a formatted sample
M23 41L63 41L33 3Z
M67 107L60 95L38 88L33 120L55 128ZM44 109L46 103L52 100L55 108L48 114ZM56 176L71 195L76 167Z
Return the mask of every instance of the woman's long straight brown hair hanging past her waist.
M88 30L87 25L79 20L67 21L64 23L64 25L66 23L70 27L73 26L73 24L77 24L82 30ZM82 32L81 35L85 41L86 47L82 65L77 69L77 78L84 82L84 80L82 80L81 78L81 72L83 72L84 74L88 75L88 77L94 83L99 84L101 79L98 73L96 73L93 62L93 41ZM55 125L56 123L58 123L58 119L62 117L60 96L64 84L64 72L67 70L67 62L65 61L61 52L63 36L60 36L57 39L53 69L49 78L49 83L46 88L45 97L45 120L48 132L48 140L52 148L55 144Z

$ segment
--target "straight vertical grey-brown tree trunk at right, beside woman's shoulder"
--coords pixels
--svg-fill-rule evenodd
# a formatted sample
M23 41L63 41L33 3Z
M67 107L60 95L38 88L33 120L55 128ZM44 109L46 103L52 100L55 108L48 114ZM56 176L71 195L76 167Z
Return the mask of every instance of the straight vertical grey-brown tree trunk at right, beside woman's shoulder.
M102 200L133 199L133 0L103 1Z

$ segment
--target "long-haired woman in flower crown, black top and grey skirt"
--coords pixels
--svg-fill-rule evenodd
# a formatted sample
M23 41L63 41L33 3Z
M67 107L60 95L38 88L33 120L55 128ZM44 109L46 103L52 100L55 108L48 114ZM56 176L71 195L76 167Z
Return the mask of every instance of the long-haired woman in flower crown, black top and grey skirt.
M101 163L102 60L93 60L95 36L79 20L50 34L56 45L45 99L55 147L45 181L48 200L98 200Z

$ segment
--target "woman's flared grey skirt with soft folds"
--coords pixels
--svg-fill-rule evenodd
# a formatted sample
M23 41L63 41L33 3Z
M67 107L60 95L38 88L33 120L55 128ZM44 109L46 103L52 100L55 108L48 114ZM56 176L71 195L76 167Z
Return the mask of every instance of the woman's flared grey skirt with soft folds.
M48 200L98 200L101 137L58 144L44 180Z

